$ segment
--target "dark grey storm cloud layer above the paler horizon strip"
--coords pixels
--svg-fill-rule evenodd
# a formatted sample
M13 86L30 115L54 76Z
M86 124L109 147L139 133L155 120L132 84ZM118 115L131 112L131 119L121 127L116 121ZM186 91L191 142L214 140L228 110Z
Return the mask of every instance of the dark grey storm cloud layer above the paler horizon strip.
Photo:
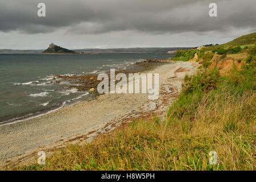
M46 4L46 17L37 16L37 4ZM218 17L208 15L209 3L218 5ZM84 0L0 2L0 31L26 34L63 29L74 34L112 31L166 32L227 31L255 28L255 0Z

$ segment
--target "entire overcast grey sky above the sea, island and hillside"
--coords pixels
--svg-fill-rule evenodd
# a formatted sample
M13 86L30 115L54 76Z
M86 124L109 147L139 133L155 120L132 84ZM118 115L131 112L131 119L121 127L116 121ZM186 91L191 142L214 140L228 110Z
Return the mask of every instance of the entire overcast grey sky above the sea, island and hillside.
M211 2L218 17L209 16ZM255 7L255 0L1 0L0 49L220 44L256 32Z

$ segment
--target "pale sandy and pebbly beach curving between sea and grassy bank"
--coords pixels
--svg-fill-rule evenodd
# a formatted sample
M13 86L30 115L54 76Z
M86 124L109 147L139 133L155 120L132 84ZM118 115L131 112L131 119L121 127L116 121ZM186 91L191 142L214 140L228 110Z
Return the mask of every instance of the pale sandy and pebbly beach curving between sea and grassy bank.
M35 160L38 151L51 151L67 144L90 142L100 133L137 118L164 117L167 107L181 91L186 74L194 74L198 63L171 61L150 73L159 73L159 98L147 94L103 94L49 114L0 125L0 166Z

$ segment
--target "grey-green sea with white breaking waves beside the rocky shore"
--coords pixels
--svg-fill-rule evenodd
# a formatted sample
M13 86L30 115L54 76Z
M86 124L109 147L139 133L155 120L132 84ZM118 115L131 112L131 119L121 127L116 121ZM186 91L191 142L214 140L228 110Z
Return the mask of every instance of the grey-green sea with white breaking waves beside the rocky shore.
M70 88L54 75L86 75L133 68L145 59L173 57L149 53L98 55L0 54L0 125L35 117L65 105L87 100L89 91Z

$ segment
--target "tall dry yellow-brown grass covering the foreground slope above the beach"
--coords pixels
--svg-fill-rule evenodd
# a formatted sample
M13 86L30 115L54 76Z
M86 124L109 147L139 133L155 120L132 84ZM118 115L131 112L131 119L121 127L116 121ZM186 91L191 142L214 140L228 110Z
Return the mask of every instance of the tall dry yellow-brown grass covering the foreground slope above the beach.
M48 159L46 166L34 167L46 170L255 170L256 93L247 92L239 100L223 93L216 96L216 100L226 102L214 102L211 96L205 95L193 119L187 115L170 121L170 116L166 116L164 120L133 122L101 135L90 144L69 146ZM209 152L213 150L218 154L216 166L209 164Z

